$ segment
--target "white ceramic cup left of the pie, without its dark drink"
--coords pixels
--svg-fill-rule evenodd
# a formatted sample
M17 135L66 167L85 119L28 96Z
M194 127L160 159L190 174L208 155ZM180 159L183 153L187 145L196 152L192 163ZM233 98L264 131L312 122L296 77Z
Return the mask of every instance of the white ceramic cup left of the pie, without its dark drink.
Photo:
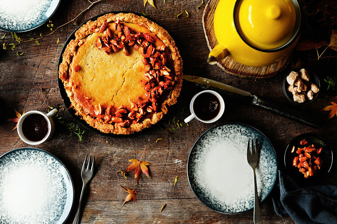
M23 140L24 142L26 142L27 144L29 145L38 145L38 144L41 144L45 141L48 141L54 134L55 132L55 122L53 120L53 116L57 113L57 109L53 109L52 111L50 111L48 114L44 114L40 111L37 111L37 110L31 110L31 111L28 111L26 112L25 114L23 114L21 116L21 118L19 119L19 122L18 122L18 134L19 134L19 137L21 138L21 140ZM28 115L31 115L31 114L40 114L42 115L46 120L47 120L47 123L48 123L48 133L47 135L40 141L30 141L28 140L25 135L22 133L22 122L23 120L25 120L25 118L28 116Z

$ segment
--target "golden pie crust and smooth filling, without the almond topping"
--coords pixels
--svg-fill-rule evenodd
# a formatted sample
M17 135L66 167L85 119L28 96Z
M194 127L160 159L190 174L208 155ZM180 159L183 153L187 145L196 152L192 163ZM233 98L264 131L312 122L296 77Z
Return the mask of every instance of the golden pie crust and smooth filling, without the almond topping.
M116 21L129 27L133 34L140 32L150 34L154 40L152 43L154 47L166 46L164 51L166 54L162 53L162 55L166 55L165 66L167 67L165 68L170 71L170 76L163 77L171 79L173 77L174 81L171 87L160 93L160 96L158 91L155 91L154 94L159 96L159 99L154 102L158 105L157 111L151 111L154 105L150 102L153 107L149 106L148 111L151 112L145 111L142 118L137 121L131 118L129 122L126 122L130 125L124 127L120 126L121 123L115 123L112 120L109 123L104 111L110 111L107 108L112 107L113 117L118 108L124 108L127 113L132 112L132 102L139 103L140 100L147 99L146 94L150 94L153 89L151 91L145 90L144 86L140 85L147 73L144 68L145 64L142 63L144 57L132 46L126 46L126 54L123 53L123 50L107 53L95 45L95 40L98 37L103 40L107 31L100 32L101 30L98 31L98 28L103 27L106 23L106 27L109 28L112 35L118 35L118 30L114 29ZM177 102L182 87L182 59L171 36L157 24L133 13L109 13L99 17L96 21L84 24L76 31L75 37L64 51L63 61L59 67L59 77L71 101L71 107L75 109L75 114L90 126L104 133L132 134L157 123L167 113L167 107ZM104 43L102 47L104 47ZM159 85L158 83L159 81L157 85ZM161 89L163 88L161 87ZM102 108L102 112L99 111L99 114L97 114L98 104Z

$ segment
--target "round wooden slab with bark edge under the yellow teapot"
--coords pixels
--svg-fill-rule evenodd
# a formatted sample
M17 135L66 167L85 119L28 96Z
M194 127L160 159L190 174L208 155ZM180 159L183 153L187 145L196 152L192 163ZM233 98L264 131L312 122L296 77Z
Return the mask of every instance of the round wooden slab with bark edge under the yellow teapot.
M215 7L218 5L220 0L209 0L205 6L203 14L203 27L205 32L205 37L207 41L208 48L210 51L214 46L218 44L218 41L215 38L213 19ZM282 71L290 61L290 55L284 57L282 60L268 66L263 67L252 67L246 66L239 62L234 61L232 58L227 57L217 65L224 71L242 76L242 77L251 77L251 78L268 78L278 74Z

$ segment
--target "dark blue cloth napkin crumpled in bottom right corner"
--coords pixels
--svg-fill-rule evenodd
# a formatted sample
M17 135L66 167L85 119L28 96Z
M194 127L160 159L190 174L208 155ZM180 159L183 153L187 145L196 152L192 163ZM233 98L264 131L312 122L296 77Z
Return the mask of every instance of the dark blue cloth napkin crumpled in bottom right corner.
M280 170L279 180L272 194L277 215L289 215L298 224L337 223L337 186L300 186Z

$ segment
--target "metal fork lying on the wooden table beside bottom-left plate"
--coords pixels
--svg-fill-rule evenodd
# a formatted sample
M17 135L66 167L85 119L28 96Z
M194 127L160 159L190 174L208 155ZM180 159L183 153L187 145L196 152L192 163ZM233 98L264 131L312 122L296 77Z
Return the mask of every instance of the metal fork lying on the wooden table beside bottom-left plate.
M84 163L83 163L83 167L82 167L82 181L83 181L83 187L82 187L82 192L81 192L81 197L80 197L80 202L79 202L79 207L77 209L76 215L75 215L75 219L74 222L72 224L80 224L80 212L81 212L81 207L82 207L82 199L83 199L83 195L84 195L84 189L87 186L87 184L89 183L89 181L92 179L92 177L94 176L94 165L95 165L95 156L92 160L92 165L91 165L91 169L89 169L89 164L90 164L90 160L91 160L91 155L89 157L89 161L88 161L88 165L87 168L85 168L86 162L87 162L87 158L88 158L88 154L85 157Z

